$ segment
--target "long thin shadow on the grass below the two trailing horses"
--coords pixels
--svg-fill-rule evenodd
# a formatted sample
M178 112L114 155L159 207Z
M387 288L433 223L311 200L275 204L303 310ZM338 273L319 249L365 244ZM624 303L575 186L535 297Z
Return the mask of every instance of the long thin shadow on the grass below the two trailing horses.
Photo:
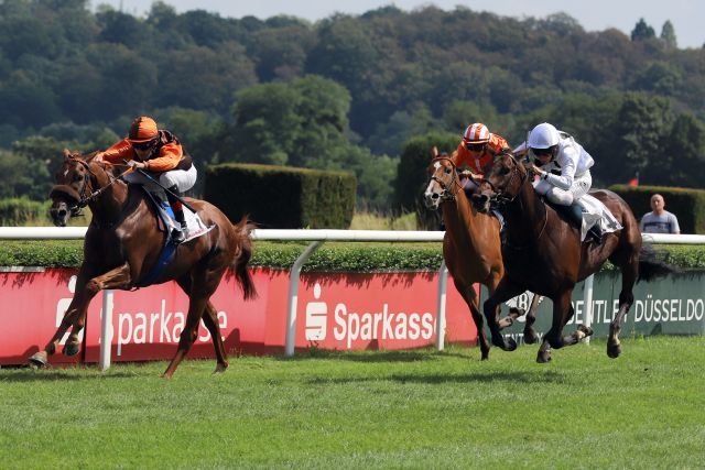
M400 384L424 383L565 383L565 375L555 371L545 372L516 372L516 371L494 371L494 372L469 372L465 374L392 374L389 376L370 378L336 378L336 379L313 379L307 383L312 385L323 384L349 384L365 382L392 381Z

